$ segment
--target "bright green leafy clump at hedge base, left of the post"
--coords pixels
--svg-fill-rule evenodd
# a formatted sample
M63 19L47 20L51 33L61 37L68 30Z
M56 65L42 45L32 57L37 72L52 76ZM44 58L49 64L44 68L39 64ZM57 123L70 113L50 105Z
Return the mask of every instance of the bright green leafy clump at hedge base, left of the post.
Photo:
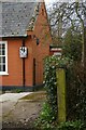
M55 117L47 102L43 104L40 117L37 119L34 125L35 128L40 128L40 130L51 130L55 127Z

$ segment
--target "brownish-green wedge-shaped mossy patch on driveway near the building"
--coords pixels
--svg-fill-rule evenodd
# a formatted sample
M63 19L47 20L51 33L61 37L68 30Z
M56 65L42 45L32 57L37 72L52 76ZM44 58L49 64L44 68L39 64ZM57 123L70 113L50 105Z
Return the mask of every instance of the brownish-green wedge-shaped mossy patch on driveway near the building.
M28 94L28 95L22 98L20 100L29 100L29 101L38 102L38 101L44 101L45 99L46 99L46 92L38 91L38 92L33 92L31 94Z

